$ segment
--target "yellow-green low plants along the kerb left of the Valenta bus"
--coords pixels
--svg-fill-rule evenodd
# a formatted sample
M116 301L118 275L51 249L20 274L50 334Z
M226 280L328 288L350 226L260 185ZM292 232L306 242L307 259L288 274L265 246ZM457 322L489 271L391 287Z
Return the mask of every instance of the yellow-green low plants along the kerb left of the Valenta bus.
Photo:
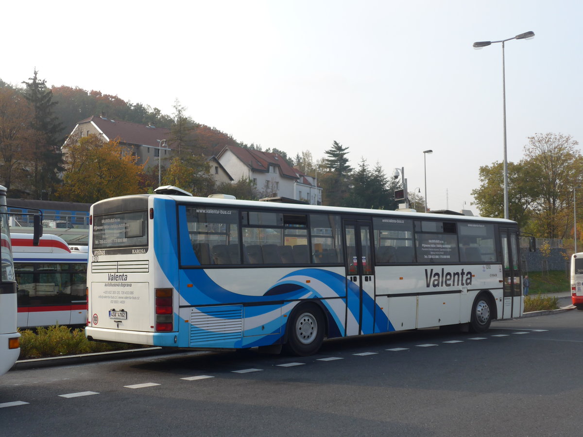
M19 360L31 358L61 357L63 355L90 354L139 348L141 346L126 343L97 343L85 337L82 328L71 329L67 326L38 327L19 330Z

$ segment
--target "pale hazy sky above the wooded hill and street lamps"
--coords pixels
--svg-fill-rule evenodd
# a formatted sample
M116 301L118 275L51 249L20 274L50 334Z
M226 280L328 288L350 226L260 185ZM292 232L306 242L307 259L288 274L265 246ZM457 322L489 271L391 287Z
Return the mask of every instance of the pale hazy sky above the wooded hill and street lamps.
M508 160L528 137L583 140L583 2L190 0L11 1L2 5L0 79L38 69L48 85L117 94L290 157L334 140L431 209L470 206L480 165L503 160L503 40ZM97 115L97 114L86 114ZM84 116L85 117L85 116Z

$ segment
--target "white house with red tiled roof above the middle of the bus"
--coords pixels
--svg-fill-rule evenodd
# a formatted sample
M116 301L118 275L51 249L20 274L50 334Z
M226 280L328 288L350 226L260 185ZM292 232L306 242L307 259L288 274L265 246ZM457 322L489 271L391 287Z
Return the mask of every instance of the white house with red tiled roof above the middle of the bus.
M299 173L277 153L225 146L217 159L235 181L241 178L253 181L261 197L321 205L322 189L316 186L315 178Z

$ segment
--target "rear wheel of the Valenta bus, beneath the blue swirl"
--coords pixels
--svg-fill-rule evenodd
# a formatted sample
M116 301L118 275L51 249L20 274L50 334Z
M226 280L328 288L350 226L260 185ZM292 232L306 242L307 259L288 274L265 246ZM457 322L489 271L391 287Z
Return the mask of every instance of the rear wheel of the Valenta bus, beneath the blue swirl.
M305 357L317 353L324 341L324 315L316 304L300 304L287 321L289 354Z

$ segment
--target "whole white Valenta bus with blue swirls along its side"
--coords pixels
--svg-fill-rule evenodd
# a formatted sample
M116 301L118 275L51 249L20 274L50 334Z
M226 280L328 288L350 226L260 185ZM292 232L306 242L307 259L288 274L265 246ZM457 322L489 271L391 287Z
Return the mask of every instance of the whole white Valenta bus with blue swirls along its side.
M196 198L174 187L90 211L90 340L203 350L457 325L524 308L514 221Z

